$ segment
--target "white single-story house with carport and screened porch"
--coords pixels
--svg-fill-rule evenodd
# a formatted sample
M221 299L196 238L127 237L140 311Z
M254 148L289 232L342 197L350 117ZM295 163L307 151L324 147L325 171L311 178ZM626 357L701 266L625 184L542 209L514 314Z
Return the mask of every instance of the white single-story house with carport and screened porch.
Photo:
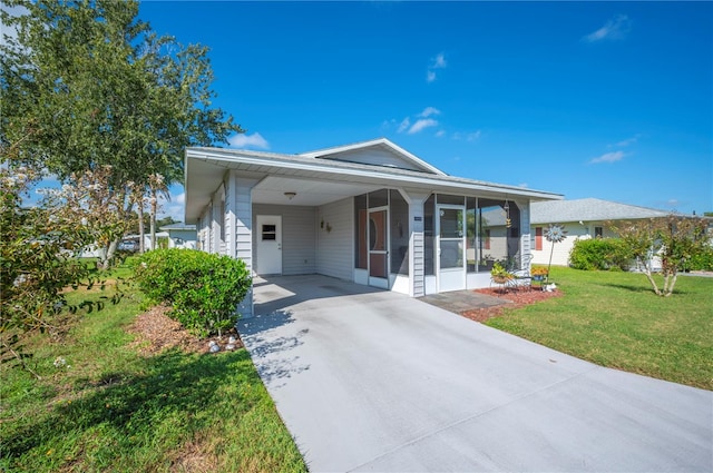
M413 297L486 287L530 253L530 201L558 194L446 175L387 139L301 155L188 148L198 247L257 275L322 274ZM491 228L485 215L510 218ZM252 294L241 306L252 315Z

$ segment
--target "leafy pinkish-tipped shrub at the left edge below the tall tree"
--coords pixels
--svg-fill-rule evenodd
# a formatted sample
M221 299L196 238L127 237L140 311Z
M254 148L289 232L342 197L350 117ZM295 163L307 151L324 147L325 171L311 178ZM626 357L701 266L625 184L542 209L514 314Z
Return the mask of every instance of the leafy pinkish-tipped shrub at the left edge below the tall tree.
M91 267L75 256L95 234L55 207L22 207L22 195L38 176L26 166L0 169L0 358L27 369L28 354L20 349L25 337L60 331L67 309L95 307L89 302L71 305L66 298L68 286L95 284Z

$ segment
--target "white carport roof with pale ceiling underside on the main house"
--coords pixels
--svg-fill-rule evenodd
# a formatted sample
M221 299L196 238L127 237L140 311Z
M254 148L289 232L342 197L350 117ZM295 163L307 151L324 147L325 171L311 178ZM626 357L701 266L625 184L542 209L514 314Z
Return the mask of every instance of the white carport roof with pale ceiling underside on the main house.
M345 150L374 146L391 148L394 155L416 162L423 171L325 159ZM238 170L246 178L261 179L253 190L254 203L274 204L277 201L272 199L279 196L281 205L322 205L384 187L492 198L563 198L560 194L448 176L385 139L303 155L196 147L186 149L186 223L197 220L226 170ZM297 193L302 198L284 198L285 190L293 190L286 187L290 184L305 190Z

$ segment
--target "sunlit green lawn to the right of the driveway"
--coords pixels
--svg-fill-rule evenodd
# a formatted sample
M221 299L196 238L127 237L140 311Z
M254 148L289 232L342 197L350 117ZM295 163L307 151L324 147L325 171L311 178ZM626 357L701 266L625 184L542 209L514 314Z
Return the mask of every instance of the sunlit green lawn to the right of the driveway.
M563 297L487 325L602 366L713 390L713 278L680 276L665 298L642 274L558 267L550 279Z

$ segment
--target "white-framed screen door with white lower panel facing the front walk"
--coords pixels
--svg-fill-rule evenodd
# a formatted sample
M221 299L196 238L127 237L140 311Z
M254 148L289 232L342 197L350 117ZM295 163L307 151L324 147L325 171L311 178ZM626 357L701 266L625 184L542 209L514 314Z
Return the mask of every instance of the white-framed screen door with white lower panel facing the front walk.
M466 208L463 206L437 206L436 239L438 256L438 292L466 288Z

